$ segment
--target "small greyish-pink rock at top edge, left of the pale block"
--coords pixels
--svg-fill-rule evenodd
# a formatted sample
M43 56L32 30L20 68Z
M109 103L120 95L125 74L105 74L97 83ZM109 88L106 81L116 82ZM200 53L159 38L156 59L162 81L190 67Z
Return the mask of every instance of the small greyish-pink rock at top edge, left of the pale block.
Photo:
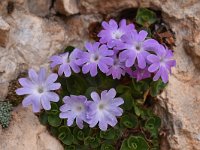
M50 12L52 0L28 0L29 11L41 17L45 17Z

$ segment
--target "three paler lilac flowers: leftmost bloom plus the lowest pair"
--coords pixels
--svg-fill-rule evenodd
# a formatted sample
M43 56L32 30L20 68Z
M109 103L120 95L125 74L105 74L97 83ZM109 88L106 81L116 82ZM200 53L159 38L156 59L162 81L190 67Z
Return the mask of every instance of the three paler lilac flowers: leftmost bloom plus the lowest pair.
M16 90L18 95L28 95L23 100L23 106L32 105L33 112L39 112L42 108L50 110L50 101L59 101L59 96L51 92L60 88L60 83L54 83L57 77L57 74L51 74L46 78L44 68L39 71L39 74L30 69L29 78L19 79L23 88ZM102 91L101 97L98 93L92 92L93 101L88 101L83 95L65 96L59 117L67 118L67 126L71 126L76 119L76 124L80 129L83 128L84 121L90 127L99 124L99 128L106 131L108 125L114 127L117 124L116 116L121 116L123 113L119 106L124 103L124 100L115 96L116 91L113 88Z

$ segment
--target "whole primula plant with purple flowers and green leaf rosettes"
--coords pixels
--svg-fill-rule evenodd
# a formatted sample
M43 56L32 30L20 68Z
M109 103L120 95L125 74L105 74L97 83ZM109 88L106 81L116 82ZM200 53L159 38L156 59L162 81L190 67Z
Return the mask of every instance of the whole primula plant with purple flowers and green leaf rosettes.
M169 80L173 52L125 19L103 21L97 36L52 56L54 73L30 69L20 78L23 106L39 112L66 150L159 149L161 120L148 103Z

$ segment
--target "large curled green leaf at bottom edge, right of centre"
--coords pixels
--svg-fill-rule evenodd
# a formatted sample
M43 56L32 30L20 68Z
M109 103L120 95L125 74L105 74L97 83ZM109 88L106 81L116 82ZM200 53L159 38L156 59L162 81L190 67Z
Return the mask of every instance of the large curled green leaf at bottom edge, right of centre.
M130 136L127 141L128 147L131 150L148 150L149 145L141 136Z

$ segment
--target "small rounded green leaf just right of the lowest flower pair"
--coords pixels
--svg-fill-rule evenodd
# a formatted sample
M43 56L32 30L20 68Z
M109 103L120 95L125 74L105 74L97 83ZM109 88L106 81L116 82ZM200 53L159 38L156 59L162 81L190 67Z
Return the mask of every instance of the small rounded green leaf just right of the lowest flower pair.
M120 120L120 126L126 128L136 128L138 124L137 118L133 115L124 115Z

